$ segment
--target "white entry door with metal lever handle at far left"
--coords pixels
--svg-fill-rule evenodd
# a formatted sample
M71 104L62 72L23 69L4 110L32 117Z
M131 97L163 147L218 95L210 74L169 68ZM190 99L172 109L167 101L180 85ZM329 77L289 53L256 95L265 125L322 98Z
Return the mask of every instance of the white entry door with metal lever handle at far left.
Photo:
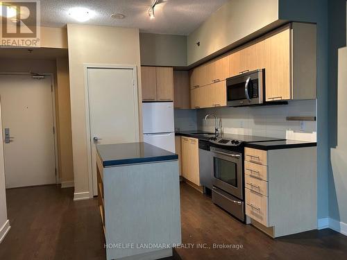
M55 184L51 77L0 75L0 98L6 188Z

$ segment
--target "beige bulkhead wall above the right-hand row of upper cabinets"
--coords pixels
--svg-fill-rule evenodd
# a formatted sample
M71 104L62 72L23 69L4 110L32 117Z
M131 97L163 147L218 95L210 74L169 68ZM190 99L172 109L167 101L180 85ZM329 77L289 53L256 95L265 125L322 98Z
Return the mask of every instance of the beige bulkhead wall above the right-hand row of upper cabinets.
M230 0L188 35L187 65L239 45L240 40L278 22L278 0Z

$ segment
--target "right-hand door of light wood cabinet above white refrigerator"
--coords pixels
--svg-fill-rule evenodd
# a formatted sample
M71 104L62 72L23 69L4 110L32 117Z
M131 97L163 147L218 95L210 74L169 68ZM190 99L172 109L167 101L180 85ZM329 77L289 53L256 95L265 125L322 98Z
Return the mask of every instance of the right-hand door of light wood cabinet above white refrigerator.
M157 67L157 100L174 100L174 69L172 67Z

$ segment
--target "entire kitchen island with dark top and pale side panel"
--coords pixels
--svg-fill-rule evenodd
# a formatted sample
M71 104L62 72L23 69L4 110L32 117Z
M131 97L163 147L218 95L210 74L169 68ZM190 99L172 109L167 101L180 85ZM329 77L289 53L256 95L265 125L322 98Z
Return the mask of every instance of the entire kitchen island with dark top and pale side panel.
M96 146L107 259L160 259L181 243L178 156L139 143Z

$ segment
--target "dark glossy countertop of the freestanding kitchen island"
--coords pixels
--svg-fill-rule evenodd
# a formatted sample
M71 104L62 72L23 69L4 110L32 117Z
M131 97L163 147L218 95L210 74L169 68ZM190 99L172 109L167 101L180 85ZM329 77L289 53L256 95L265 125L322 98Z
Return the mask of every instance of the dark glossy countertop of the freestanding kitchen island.
M96 146L96 150L101 157L103 167L178 159L178 155L144 142L100 144Z

